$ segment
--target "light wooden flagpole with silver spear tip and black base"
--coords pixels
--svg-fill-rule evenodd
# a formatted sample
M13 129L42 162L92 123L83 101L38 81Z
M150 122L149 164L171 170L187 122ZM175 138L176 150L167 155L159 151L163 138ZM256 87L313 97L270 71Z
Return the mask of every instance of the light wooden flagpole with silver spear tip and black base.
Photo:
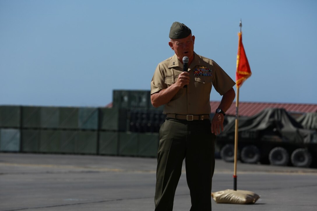
M242 21L240 19L240 33L242 33ZM233 190L237 190L237 160L238 160L238 125L239 125L239 86L236 86L236 126L235 126L235 158L233 171Z

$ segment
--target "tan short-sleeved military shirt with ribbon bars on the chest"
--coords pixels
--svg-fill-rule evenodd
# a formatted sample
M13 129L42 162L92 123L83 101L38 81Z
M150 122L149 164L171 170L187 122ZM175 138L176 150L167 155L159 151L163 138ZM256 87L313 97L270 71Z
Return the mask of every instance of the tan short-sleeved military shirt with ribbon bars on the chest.
M176 83L183 72L183 64L176 54L157 66L152 81L151 94ZM194 60L188 69L190 82L164 106L163 113L210 114L210 92L212 85L223 95L235 82L216 62L194 53Z

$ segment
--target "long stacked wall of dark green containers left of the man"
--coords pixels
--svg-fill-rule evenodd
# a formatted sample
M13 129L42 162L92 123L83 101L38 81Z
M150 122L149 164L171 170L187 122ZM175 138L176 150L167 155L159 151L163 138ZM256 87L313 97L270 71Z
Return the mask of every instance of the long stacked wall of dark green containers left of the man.
M161 112L142 90L114 90L112 108L0 105L0 152L156 157Z

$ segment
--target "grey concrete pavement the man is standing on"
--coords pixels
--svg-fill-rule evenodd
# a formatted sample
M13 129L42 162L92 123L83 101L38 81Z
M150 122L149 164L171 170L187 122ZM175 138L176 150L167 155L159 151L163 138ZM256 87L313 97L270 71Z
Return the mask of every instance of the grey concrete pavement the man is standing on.
M0 211L154 210L155 158L0 153ZM238 189L254 205L217 204L213 210L317 210L317 169L238 163ZM212 191L233 188L233 163L216 160ZM174 211L190 209L186 175Z

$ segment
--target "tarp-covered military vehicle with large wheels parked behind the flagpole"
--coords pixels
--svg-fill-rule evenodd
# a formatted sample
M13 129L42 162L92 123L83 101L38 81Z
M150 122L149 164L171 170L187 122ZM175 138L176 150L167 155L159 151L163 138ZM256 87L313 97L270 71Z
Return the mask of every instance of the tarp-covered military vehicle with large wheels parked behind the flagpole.
M227 162L234 160L235 117L226 119L216 147ZM317 131L303 126L281 108L268 108L252 117L240 117L238 158L243 163L270 163L310 167L316 162Z

